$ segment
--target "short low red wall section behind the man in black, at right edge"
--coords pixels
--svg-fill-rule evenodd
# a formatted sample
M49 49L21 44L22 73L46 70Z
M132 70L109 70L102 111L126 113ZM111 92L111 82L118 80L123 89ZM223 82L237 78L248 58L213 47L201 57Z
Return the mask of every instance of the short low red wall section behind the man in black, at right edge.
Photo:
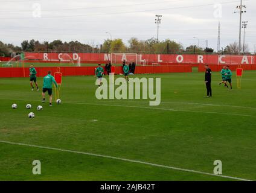
M208 65L213 72L219 72L225 65ZM235 71L239 65L229 65L231 71ZM244 71L256 71L256 65L241 65ZM205 65L198 65L198 72L205 72Z

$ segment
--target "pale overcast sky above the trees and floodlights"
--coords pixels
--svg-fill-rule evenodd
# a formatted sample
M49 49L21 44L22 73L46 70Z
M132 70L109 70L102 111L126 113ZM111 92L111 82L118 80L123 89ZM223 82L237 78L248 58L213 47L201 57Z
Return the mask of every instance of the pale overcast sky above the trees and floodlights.
M198 39L205 47L208 40L208 46L217 49L219 21L220 47L238 42L239 13L234 11L239 4L234 0L0 0L0 40L14 45L26 39L78 40L94 46L110 39L110 34L125 43L130 37L146 40L157 36L155 15L161 14L159 40L175 40L184 47L197 45ZM256 1L243 0L243 5L246 43L254 52Z

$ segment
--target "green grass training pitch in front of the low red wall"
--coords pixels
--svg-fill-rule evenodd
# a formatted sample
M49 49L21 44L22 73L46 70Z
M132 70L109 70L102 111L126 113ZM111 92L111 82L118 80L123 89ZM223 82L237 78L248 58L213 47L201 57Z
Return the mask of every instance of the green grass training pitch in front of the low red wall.
M63 77L62 104L49 107L28 78L0 78L0 180L235 180L176 169L213 174L214 160L222 160L223 176L256 180L255 71L245 72L240 90L233 76L232 92L217 86L214 73L213 98L203 97L203 73L135 77L161 77L160 106L97 100L95 78L87 76ZM41 175L32 174L33 160Z

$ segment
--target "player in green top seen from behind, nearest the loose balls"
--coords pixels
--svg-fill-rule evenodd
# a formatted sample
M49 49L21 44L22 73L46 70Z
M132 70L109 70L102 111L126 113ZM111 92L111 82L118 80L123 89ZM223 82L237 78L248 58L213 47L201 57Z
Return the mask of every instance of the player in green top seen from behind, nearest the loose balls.
M46 75L45 77L43 77L43 101L42 103L45 103L45 92L48 92L48 95L50 96L50 107L53 106L52 105L52 101L53 101L53 87L52 84L55 84L56 88L58 87L58 84L56 83L54 77L51 75L51 71L48 72L48 75Z

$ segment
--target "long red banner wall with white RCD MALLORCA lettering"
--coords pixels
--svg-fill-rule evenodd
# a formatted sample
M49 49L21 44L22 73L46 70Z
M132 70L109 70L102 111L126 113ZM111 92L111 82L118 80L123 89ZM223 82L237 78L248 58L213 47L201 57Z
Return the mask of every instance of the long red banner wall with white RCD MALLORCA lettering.
M112 55L114 57L114 55ZM25 60L30 62L65 62L74 60L77 63L80 58L81 63L101 63L104 64L110 61L111 54L106 53L36 53L25 52ZM123 59L127 62L134 62L134 55L119 54L115 55L113 63L122 63ZM138 63L146 60L147 64L159 63L161 65L176 65L179 64L226 64L238 65L248 64L252 65L256 62L255 55L199 55L199 54L138 54ZM116 61L116 62L114 62Z

